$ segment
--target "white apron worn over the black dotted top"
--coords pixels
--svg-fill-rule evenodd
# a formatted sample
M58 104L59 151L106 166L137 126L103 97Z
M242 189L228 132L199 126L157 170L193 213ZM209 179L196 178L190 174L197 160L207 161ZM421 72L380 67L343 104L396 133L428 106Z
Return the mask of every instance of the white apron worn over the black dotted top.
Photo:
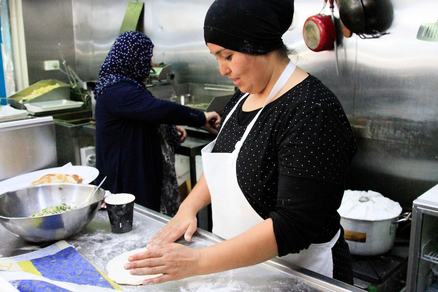
M295 71L295 64L290 61L284 72L281 74L270 92L265 104L259 110L254 119L248 124L240 141L237 141L232 153L212 153L216 139L201 150L202 165L204 176L207 181L211 196L211 212L213 221L212 232L224 239L235 237L254 225L263 222L263 218L251 207L240 190L237 182L236 163L240 148L245 141L248 133L253 128L265 106L283 88L289 77ZM236 110L242 99L247 96L244 94L234 106L224 124L228 121L231 114ZM219 133L220 134L220 133ZM219 135L218 134L218 135ZM286 261L317 272L328 277L333 277L333 259L331 248L339 238L340 231L327 243L311 244L308 249L301 250L300 253L288 254L281 257Z

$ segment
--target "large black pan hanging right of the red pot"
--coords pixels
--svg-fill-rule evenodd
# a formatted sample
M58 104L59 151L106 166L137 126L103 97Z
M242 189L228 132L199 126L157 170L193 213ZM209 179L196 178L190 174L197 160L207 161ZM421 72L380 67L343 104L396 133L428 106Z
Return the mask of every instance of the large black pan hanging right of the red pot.
M380 37L391 26L394 11L390 0L338 0L342 23L360 37Z

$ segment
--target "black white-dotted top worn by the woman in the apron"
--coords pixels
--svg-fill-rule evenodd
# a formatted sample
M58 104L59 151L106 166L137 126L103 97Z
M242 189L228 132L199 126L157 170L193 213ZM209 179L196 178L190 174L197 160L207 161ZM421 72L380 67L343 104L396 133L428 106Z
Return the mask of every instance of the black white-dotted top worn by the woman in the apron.
M242 95L236 92L223 120ZM225 124L213 152L232 152L257 113L242 112L242 104ZM279 255L327 242L339 230L337 209L356 151L342 106L313 76L262 111L240 149L237 181L257 213L272 218Z

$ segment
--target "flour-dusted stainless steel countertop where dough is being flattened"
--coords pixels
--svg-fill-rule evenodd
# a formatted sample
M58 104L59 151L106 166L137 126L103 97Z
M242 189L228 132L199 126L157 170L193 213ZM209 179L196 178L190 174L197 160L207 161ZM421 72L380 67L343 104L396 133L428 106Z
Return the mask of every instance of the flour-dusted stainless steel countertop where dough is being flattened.
M147 240L160 230L169 217L135 205L133 230L125 234L111 233L106 210L98 211L96 217L75 237L66 241L75 247L93 265L107 272L106 265L114 256L128 250L144 247ZM0 256L14 256L44 248L47 244L25 242L0 225ZM178 242L193 248L202 248L222 241L221 238L198 229L192 242ZM178 281L151 286L120 285L123 291L352 291L363 292L355 286L322 275L288 266L280 259L231 271L195 276Z

